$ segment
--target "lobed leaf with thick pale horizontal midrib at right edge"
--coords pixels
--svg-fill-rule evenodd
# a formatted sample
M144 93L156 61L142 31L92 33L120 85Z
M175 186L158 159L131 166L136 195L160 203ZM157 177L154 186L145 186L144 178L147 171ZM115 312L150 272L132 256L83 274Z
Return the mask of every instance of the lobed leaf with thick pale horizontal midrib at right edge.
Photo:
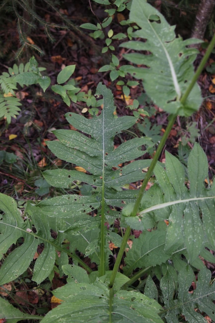
M154 169L159 185L153 185L144 194L138 216L130 217L124 209L124 215L127 215L124 221L132 228L142 230L168 219L165 250L185 245L190 263L194 265L198 255L205 253L205 235L210 249L215 249L215 185L205 188L208 161L199 144L195 143L188 159L190 189L184 184L185 174L180 161L168 152L165 157L166 170L160 164Z

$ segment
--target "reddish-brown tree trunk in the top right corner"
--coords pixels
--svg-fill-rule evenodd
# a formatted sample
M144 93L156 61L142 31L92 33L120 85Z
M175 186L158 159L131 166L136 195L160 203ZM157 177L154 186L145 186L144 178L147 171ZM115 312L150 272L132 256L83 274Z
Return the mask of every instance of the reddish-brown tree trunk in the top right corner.
M194 26L192 28L192 37L203 39L206 27L211 17L215 0L201 0L196 14Z

